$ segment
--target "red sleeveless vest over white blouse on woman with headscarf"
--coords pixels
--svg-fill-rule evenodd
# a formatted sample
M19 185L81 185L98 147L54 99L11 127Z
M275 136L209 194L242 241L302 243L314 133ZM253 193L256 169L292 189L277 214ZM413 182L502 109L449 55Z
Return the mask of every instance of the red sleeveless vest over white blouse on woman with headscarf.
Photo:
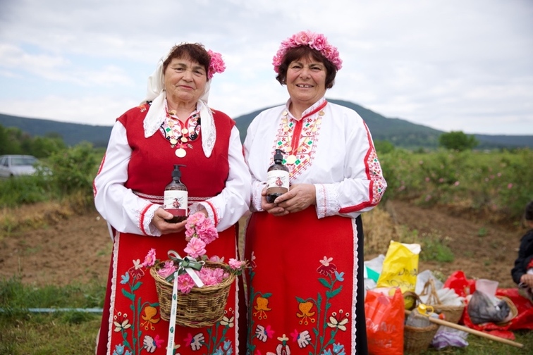
M190 142L192 148L185 148L187 155L178 158L175 154L178 147L172 148L160 130L145 138L142 124L148 108L148 104L132 108L117 119L124 125L132 149L125 187L161 197L172 180L174 164L183 164L185 166L180 168L181 182L187 187L189 197L214 197L219 194L228 178L228 147L235 121L225 113L212 110L216 143L211 156L206 158L204 155L200 132L200 136Z

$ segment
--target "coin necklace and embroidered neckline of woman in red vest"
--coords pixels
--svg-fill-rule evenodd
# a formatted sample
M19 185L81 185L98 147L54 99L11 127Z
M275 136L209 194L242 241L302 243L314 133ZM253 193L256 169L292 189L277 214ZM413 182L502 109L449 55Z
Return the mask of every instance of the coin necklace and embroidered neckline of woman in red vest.
M200 134L200 114L195 113L187 120L187 127L180 120L176 120L167 112L167 118L161 128L165 134L165 139L171 144L171 148L178 146L174 152L178 158L183 158L187 155L186 148L192 149L190 142L198 138Z

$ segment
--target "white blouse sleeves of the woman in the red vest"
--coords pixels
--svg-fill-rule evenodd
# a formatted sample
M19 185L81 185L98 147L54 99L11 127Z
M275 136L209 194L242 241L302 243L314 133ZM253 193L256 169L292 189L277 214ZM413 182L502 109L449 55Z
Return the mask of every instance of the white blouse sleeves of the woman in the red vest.
M160 133L158 131L155 134ZM117 121L111 130L105 161L97 177L94 178L94 204L108 225L116 230L144 235L145 233L140 230L142 216L139 211L144 211L152 202L137 196L124 186L128 180L128 162L131 153L125 127ZM190 213L198 211L200 205L204 206L212 220L215 219L214 213L216 213L218 219L216 230L219 232L235 224L250 208L250 173L245 165L239 132L235 126L231 130L228 164L228 179L222 192L207 201L195 202L189 206ZM143 226L148 235L161 235L161 232L151 224L154 212L161 206L161 204L150 206L144 214Z

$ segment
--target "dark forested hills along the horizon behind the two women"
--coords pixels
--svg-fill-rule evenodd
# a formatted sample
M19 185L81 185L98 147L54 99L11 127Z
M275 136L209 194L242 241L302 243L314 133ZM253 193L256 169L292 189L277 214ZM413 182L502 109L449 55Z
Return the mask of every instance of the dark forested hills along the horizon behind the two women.
M367 123L374 140L388 141L395 147L405 149L436 148L439 145L439 136L445 133L444 131L435 130L424 125L417 125L401 118L386 118L379 113L375 113L353 102L336 99L328 99L328 101L352 108ZM240 131L241 141L244 141L250 122L264 109L266 108L261 108L235 118L235 123ZM54 120L9 116L1 113L0 125L4 127L17 127L32 136L44 136L54 132L61 135L64 142L70 146L85 141L92 143L94 147L106 147L109 135L111 134L111 126L63 123ZM474 137L480 143L478 146L479 149L533 148L533 135L474 134Z

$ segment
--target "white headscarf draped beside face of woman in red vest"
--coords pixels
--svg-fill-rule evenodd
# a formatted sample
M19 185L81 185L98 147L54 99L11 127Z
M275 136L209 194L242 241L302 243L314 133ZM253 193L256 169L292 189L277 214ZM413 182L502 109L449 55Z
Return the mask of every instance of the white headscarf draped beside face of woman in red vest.
M148 77L148 87L146 97L142 100L141 104L145 104L146 101L152 101L152 105L149 106L147 115L143 122L145 128L145 138L154 135L161 124L163 124L166 118L165 101L166 91L164 84L163 63L166 58L169 58L171 51L165 56L162 56L157 62L157 66L154 73ZM213 151L214 143L216 141L216 130L214 125L213 114L209 107L207 107L207 99L209 98L209 87L211 86L208 80L205 83L204 94L197 102L197 108L200 111L200 118L202 120L202 149L205 156L209 158Z

